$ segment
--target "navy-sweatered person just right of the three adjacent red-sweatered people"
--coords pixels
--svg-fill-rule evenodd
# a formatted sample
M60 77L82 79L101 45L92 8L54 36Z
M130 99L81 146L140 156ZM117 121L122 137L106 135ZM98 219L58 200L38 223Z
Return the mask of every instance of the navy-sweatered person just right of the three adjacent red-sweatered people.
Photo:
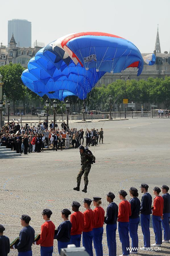
M118 206L113 202L115 195L112 192L107 194L107 202L109 205L107 207L106 217L104 222L106 225L106 235L107 235L107 246L109 248L109 256L116 256L116 230L117 230L117 216L118 216Z

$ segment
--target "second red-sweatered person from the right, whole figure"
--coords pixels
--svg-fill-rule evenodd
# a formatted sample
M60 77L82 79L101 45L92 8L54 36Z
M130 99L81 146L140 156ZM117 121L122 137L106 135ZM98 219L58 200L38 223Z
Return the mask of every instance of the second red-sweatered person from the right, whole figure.
M118 212L118 231L119 238L122 243L123 254L119 256L127 256L130 254L129 248L129 216L131 216L131 206L130 203L126 200L127 193L125 190L119 191L119 198L121 200L119 204Z

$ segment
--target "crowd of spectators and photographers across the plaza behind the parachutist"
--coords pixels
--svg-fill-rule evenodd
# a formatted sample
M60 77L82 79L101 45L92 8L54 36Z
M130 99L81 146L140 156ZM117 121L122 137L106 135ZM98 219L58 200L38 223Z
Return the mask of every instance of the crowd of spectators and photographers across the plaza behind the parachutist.
M65 122L61 123L59 129L54 123L48 124L47 120L43 123L40 122L37 127L35 125L29 126L26 123L20 126L19 121L15 123L7 122L0 130L0 145L15 150L16 153L24 152L24 154L32 152L43 152L44 148L53 148L54 150L63 150L71 148L78 148L80 144L84 143L88 146L96 146L102 141L103 143L103 130L100 131L95 128L86 131L83 129L69 128Z

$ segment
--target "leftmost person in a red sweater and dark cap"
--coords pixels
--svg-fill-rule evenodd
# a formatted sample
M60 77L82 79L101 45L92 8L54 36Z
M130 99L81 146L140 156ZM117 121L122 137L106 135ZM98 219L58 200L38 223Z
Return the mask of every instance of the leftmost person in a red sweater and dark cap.
M44 209L42 212L43 219L45 222L41 226L41 237L38 241L34 242L34 244L40 244L40 253L41 256L52 256L53 254L53 243L54 243L54 232L55 225L50 220L51 210Z

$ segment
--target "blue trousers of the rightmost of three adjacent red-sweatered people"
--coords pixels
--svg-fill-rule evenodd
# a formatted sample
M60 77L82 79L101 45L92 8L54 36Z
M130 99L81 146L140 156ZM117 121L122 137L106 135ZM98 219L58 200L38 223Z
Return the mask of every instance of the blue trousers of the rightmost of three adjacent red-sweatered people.
M101 228L93 228L93 243L94 249L96 251L96 256L103 256L103 227Z

